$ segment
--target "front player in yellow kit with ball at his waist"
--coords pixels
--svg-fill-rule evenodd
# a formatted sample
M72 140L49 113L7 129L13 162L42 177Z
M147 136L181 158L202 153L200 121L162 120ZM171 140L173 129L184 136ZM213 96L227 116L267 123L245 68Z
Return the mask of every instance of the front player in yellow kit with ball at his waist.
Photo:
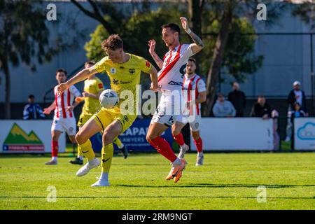
M101 165L101 162L95 157L92 150L90 137L97 132L103 132L102 173L98 181L92 184L92 187L109 186L109 169L111 168L111 160L113 158L113 140L119 134L125 132L137 118L136 98L138 94L136 85L139 85L141 71L150 73L152 81L151 89L154 91L158 91L159 89L158 71L143 57L124 52L123 41L120 36L117 34L109 36L109 38L102 42L102 49L108 56L101 59L94 66L79 71L76 76L58 86L58 91L63 92L71 85L85 80L87 77L94 75L94 73L106 71L111 80L111 88L118 93L118 96L124 90L131 91L133 94L132 113L123 114L125 111L120 110L120 105L124 101L120 100L118 106L113 107L113 109L102 107L92 118L87 120L85 125L78 131L78 134L76 134L76 141L83 155L87 158L87 164L81 167L76 175L84 176L90 169Z

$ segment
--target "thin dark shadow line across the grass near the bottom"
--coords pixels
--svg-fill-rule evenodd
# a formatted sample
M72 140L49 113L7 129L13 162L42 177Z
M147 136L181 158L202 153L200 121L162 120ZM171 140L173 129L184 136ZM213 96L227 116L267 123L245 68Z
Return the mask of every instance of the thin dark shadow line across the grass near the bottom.
M47 197L41 196L0 196L0 198L19 198L19 199L46 199ZM243 198L243 199L256 199L257 197L240 197L240 196L59 196L57 199L99 199L99 198ZM267 197L267 199L286 199L286 200L300 200L300 199L311 199L315 197Z

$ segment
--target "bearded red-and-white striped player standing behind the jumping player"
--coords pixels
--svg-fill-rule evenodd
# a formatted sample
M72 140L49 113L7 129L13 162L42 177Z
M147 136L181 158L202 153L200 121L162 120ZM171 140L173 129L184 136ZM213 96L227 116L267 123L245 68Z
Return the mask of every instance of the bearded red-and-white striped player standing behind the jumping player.
M196 166L203 165L204 153L202 152L202 138L200 137L200 123L201 123L201 107L200 104L205 102L207 99L207 89L206 83L200 76L195 73L196 70L196 60L193 57L188 59L186 64L186 74L183 78L183 94L184 100L186 102L186 110L183 114L187 116L179 116L176 121L176 125L172 126L172 134L174 140L181 146L181 151L179 152L179 158L184 158L186 151L188 151L188 146L183 141L183 135L181 130L183 127L189 123L190 133L193 136L195 146L197 148L197 162ZM195 92L195 94L193 94ZM194 97L194 99L193 99ZM193 118L193 119L192 119ZM190 120L192 119L192 120ZM185 145L187 147L185 147Z

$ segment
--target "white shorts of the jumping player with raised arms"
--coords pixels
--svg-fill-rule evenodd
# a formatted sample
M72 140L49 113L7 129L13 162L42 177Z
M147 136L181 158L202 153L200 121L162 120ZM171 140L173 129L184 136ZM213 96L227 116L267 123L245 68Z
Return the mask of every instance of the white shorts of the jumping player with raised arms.
M176 98L177 97L177 98ZM160 123L171 127L181 116L181 92L172 98L170 91L163 91L160 103L151 120L152 123Z

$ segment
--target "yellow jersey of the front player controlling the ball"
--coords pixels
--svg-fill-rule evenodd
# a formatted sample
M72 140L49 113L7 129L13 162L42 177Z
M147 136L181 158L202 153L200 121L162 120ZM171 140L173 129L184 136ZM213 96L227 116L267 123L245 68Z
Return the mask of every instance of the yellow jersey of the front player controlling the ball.
M140 83L141 71L148 73L151 70L151 63L146 61L143 57L137 55L130 55L130 59L125 63L113 63L109 57L104 57L97 64L95 64L95 70L98 72L106 71L109 79L111 80L111 89L121 96L124 90L130 90L133 94L134 100L134 114L136 114L136 97L137 92L136 85ZM127 100L127 98L125 99ZM120 99L118 106L113 109L108 109L115 113L119 112L120 104L124 99Z

